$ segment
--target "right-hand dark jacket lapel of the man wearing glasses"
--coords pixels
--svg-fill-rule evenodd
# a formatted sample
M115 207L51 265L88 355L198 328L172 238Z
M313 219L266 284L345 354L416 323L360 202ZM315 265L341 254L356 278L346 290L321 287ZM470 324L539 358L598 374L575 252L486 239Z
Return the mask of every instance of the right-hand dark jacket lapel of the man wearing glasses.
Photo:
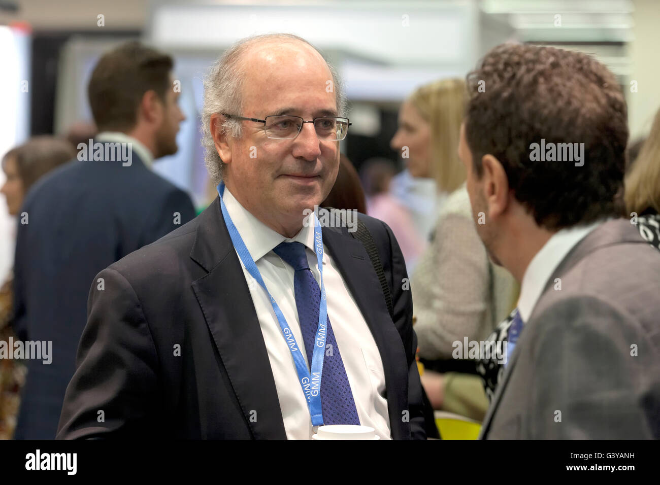
M380 352L385 373L390 429L394 439L410 437L410 424L402 420L407 410L408 366L401 336L385 305L385 298L371 260L362 243L341 228L323 228L323 243L343 276ZM405 383L405 389L401 389Z

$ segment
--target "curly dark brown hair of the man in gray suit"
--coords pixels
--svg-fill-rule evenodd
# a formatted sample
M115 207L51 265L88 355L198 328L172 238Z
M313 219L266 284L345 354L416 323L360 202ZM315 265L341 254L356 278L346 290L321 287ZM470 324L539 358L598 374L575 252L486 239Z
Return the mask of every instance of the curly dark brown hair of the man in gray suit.
M584 53L502 44L467 86L465 137L479 178L482 156L495 156L515 198L549 230L622 213L626 102L607 67ZM584 143L583 166L531 160L542 139Z

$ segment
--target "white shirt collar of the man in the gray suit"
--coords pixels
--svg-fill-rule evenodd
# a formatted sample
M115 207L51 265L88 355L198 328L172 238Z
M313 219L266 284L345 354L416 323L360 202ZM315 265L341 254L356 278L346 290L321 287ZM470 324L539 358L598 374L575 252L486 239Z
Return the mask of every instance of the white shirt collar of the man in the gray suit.
M562 229L553 234L552 238L536 253L529 262L523 276L523 282L520 285L518 311L523 322L531 317L548 278L552 276L552 272L559 266L559 263L575 245L603 222L605 221L599 220L587 226Z

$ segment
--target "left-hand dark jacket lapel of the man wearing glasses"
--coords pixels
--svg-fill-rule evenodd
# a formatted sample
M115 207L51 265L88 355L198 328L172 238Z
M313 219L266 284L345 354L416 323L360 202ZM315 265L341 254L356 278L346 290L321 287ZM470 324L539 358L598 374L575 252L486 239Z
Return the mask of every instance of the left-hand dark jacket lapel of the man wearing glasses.
M193 281L193 291L252 436L286 439L261 326L219 200L199 215L190 256L209 273Z

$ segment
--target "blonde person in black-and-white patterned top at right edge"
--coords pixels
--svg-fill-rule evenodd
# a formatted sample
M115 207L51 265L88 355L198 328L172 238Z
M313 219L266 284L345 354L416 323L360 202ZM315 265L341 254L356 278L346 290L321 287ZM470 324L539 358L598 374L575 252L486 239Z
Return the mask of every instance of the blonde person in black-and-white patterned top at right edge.
M642 238L660 249L660 110L625 183L626 215L637 223Z

